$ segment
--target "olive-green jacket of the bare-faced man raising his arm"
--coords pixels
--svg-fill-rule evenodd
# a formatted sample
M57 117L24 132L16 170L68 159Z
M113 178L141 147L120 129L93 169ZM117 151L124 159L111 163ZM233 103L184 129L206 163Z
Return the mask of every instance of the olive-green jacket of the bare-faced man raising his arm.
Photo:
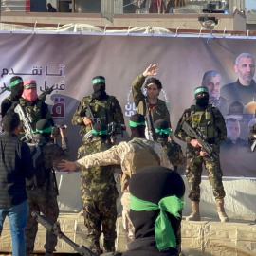
M135 81L132 82L132 91L133 91L133 98L137 107L137 113L145 116L146 106L145 106L144 99L146 98L146 96L141 92L141 87L144 82L145 82L145 77L143 76L143 74L139 75L135 79ZM156 107L151 112L151 114L152 114L153 122L155 122L158 119L164 119L168 122L169 127L172 130L170 113L164 101L158 99Z

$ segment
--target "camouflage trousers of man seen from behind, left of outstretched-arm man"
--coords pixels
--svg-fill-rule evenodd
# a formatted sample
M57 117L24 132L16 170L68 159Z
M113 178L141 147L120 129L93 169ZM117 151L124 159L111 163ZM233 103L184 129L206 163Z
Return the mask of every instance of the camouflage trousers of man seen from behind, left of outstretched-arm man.
M96 255L101 254L100 237L103 233L103 247L115 251L117 207L116 196L109 200L82 200L84 225L88 229L88 247Z

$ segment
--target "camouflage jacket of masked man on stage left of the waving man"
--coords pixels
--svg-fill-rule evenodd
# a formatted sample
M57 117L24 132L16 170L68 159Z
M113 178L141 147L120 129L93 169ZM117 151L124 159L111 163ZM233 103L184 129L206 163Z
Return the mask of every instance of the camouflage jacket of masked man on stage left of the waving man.
M90 95L82 99L71 120L73 125L80 125L80 134L85 134L91 130L89 126L86 127L83 123L83 118L86 117L87 105L90 106L94 119L100 120L101 123L107 125L114 121L124 124L121 107L116 97L107 95L106 100L100 101L93 99Z

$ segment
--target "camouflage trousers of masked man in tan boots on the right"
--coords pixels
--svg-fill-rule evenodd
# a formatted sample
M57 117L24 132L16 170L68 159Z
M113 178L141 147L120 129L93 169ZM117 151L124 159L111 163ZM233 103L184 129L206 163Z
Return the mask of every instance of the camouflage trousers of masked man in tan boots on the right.
M222 184L222 170L220 160L213 162L206 157L200 155L192 155L188 153L186 176L189 183L189 198L192 201L200 201L200 183L203 164L206 167L210 186L212 187L215 199L223 199L225 191Z

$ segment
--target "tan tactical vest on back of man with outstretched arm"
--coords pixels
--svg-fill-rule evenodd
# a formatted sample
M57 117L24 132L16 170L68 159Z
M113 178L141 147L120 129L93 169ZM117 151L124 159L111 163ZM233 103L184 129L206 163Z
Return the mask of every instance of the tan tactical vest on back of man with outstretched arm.
M135 150L132 158L133 170L131 170L131 175L136 174L138 170L144 167L160 165L160 158L151 146L138 138L134 138L131 143Z

